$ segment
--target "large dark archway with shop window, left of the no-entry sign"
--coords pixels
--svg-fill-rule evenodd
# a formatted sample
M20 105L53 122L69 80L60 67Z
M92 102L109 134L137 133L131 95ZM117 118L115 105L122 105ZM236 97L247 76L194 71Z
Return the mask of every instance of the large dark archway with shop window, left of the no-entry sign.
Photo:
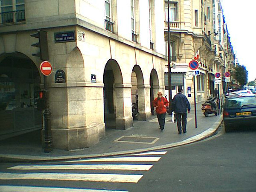
M42 128L37 110L41 76L35 63L19 52L0 55L0 139ZM38 135L38 144L40 145Z

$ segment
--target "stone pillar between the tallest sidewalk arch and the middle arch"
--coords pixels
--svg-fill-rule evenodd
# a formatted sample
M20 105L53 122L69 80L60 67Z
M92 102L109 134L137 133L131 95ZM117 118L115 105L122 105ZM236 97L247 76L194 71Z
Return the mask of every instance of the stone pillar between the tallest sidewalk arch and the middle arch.
M131 84L116 84L116 129L133 126L131 116Z

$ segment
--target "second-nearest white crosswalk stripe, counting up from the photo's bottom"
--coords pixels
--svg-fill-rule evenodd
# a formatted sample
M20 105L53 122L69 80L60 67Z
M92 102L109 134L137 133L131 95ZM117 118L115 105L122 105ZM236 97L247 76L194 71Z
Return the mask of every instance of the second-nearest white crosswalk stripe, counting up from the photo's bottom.
M143 175L94 174L94 173L0 173L1 180L80 180L99 182L137 183Z

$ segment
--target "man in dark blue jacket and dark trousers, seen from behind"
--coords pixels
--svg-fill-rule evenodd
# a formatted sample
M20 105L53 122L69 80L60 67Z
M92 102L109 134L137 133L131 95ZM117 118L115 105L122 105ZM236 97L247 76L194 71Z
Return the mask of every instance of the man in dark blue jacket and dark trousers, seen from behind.
M182 121L182 131L186 133L186 110L190 111L189 100L182 94L183 90L178 89L178 93L174 96L172 101L172 110L176 113L177 128L179 134L181 134L181 123ZM182 117L182 119L181 119Z

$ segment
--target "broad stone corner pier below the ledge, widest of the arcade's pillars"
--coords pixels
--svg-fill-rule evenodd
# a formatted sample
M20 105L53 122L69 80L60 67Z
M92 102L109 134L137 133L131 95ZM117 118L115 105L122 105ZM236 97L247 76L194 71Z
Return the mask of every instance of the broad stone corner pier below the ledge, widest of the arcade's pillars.
M53 147L90 147L105 136L102 83L49 84Z

